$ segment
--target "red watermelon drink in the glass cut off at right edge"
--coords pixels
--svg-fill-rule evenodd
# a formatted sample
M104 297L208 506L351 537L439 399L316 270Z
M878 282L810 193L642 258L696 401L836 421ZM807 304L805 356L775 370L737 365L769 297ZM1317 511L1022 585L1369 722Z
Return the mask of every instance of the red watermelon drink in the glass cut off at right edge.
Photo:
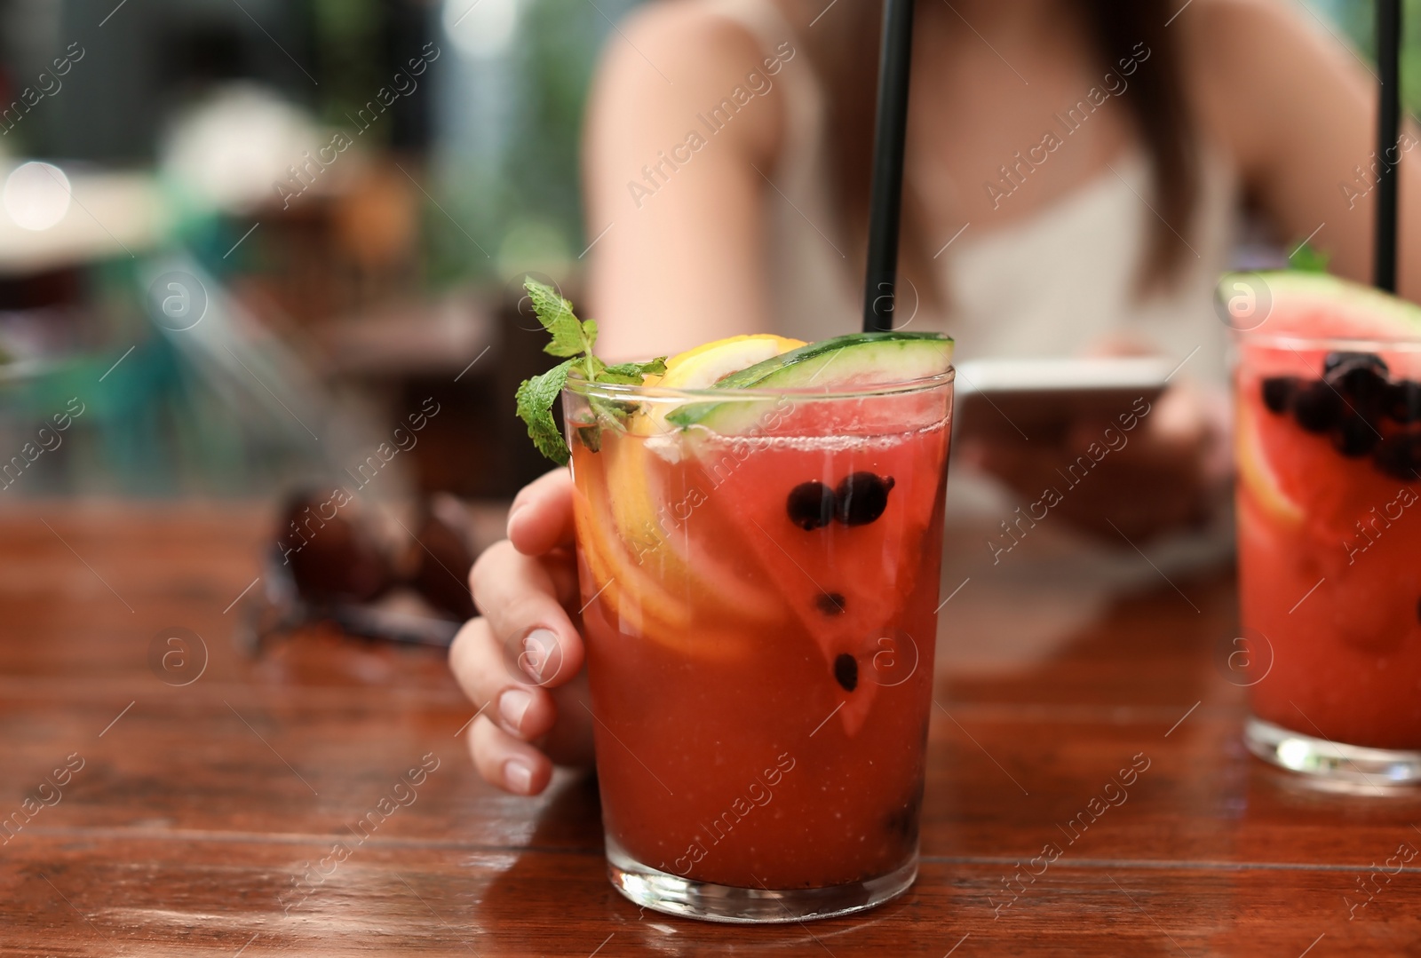
M1229 277L1223 297L1250 327L1235 371L1246 742L1356 785L1421 780L1421 308L1303 273Z

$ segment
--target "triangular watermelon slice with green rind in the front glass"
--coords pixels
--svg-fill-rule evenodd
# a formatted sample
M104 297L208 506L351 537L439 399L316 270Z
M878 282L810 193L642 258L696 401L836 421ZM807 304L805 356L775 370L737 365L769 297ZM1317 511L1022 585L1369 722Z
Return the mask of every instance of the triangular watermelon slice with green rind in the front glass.
M946 407L931 389L890 404L793 398L932 381L951 357L952 340L938 334L838 337L718 381L729 391L784 389L787 407L708 399L666 416L686 428L681 445L693 482L715 489L708 509L716 534L757 559L755 576L777 590L810 637L848 735L882 684L884 650L908 654L901 620L909 597L938 584L919 571L936 567L924 547L939 499Z

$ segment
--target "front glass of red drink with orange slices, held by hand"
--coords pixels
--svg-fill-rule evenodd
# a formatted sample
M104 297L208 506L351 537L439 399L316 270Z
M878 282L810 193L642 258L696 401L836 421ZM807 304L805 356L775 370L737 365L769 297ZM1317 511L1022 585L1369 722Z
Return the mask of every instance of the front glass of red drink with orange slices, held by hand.
M608 874L637 904L797 921L912 884L952 381L568 384Z

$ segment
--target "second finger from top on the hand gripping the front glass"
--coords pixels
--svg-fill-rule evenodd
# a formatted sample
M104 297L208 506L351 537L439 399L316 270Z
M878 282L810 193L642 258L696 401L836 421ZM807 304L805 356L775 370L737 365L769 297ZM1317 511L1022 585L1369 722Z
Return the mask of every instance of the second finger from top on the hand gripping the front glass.
M503 540L479 556L469 584L504 660L534 685L556 688L583 668L583 638L558 603L557 583L543 560Z

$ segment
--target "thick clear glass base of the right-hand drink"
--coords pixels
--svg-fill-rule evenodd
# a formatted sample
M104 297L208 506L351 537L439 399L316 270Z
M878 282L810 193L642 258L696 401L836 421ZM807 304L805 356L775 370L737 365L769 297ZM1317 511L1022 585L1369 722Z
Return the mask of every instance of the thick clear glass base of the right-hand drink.
M1421 785L1421 752L1329 742L1252 715L1243 726L1243 743L1265 762L1320 780L1354 786L1349 790L1390 790L1395 786Z

